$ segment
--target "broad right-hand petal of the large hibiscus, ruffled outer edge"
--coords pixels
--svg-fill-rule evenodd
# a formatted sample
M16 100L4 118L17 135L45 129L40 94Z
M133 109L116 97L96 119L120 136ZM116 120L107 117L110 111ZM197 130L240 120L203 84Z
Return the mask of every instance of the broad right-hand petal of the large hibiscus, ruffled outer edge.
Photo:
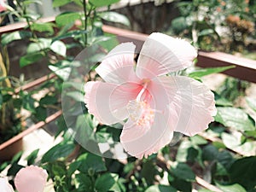
M148 85L148 91L154 98L154 108L166 111L172 129L188 136L207 129L217 113L212 91L195 79L156 77Z

